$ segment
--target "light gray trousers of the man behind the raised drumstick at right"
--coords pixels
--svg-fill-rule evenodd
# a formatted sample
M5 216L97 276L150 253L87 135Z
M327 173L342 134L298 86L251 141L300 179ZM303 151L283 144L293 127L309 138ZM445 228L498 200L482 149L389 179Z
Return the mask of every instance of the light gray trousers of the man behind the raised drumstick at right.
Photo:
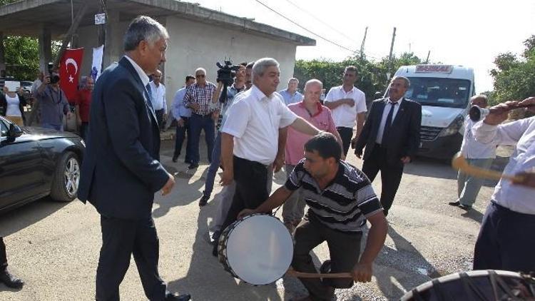
M492 165L493 158L484 159L469 159L467 162L470 165L477 166L479 168L489 169ZM484 179L477 178L472 175L467 175L459 170L457 175L457 195L459 196L459 203L462 205L472 206L476 203L477 194L483 185Z

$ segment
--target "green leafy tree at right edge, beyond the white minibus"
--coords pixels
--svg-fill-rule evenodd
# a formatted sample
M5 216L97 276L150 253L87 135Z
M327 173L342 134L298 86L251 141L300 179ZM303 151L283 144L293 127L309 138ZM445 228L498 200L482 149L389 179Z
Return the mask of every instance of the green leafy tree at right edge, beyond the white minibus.
M521 56L506 52L494 59L492 104L535 96L535 35L524 41L524 46Z

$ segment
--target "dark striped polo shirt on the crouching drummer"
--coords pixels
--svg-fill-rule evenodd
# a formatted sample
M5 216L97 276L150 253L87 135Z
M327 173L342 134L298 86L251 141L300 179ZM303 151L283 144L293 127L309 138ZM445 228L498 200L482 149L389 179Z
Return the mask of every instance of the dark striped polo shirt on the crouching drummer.
M370 180L344 161L338 163L338 172L323 190L303 167L302 159L285 183L288 190L302 188L302 197L312 214L328 228L342 232L361 232L366 218L382 211Z

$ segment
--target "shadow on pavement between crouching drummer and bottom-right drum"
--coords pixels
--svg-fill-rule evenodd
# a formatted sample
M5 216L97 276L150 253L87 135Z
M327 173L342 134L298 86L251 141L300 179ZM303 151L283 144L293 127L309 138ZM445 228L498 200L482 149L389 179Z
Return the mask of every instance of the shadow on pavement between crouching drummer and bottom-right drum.
M388 235L394 240L395 248L384 245L374 267L377 286L384 297L388 300L398 300L406 291L441 276L392 225L389 225Z

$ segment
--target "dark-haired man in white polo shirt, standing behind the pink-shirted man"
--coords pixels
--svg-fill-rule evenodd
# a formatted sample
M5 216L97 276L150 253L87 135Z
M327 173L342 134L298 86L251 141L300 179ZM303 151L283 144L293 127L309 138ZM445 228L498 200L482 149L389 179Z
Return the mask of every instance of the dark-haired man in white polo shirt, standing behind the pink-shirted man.
M357 81L357 67L345 67L342 86L332 87L323 103L332 111L332 118L335 120L340 137L342 137L345 155L347 155L350 144L355 143L360 136L367 111L365 93L353 86L355 81ZM355 121L357 122L357 136L352 140Z

